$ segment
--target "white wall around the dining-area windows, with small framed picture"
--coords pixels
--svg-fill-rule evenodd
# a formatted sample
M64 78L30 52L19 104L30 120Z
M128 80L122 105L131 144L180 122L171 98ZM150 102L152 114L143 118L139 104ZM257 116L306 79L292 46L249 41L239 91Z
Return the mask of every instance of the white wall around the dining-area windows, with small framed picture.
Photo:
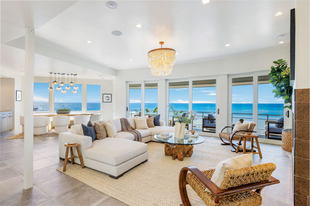
M57 75L56 75L57 76ZM69 81L71 79L69 78ZM53 78L52 78L52 81ZM58 81L58 78L56 77L56 81ZM50 82L50 78L49 77L34 77L34 82L45 82L45 83L49 83ZM65 81L66 83L67 81ZM113 104L113 98L114 98L114 85L113 85L113 81L112 80L98 80L98 79L77 79L77 83L78 84L82 84L82 90L81 88L79 88L79 90L77 90L78 92L82 92L82 111L86 112L86 88L87 88L87 84L93 84L93 85L101 85L101 97L100 97L100 102L101 102L101 113L103 116L104 120L107 119L113 119L113 111L114 111L114 104ZM53 85L53 84L52 84ZM55 85L55 88L57 87L57 85ZM54 92L55 92L55 88L54 91L49 92L49 99L50 99L50 112L54 112ZM47 90L47 88L46 88ZM60 92L57 91L56 92ZM102 102L102 94L112 94L112 103L103 103ZM66 95L66 94L64 94ZM100 113L100 111L96 111L94 113Z

